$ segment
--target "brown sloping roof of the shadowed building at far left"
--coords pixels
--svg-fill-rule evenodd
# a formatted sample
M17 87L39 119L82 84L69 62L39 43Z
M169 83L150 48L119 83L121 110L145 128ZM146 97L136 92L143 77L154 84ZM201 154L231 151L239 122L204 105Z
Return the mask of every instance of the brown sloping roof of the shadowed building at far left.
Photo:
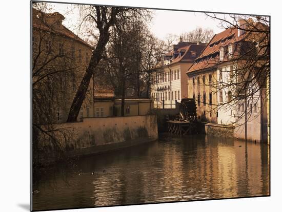
M41 11L38 11L34 8L32 8L32 27L37 28L37 29L41 29L41 30L45 30L48 32L52 32L52 33L58 33L61 34L63 36L67 36L69 38L75 39L77 41L79 41L80 43L93 48L92 46L90 46L89 44L87 44L83 39L81 39L80 37L78 37L76 34L74 34L72 31L70 31L68 28L66 28L64 25L62 25L61 27L51 27L49 26L45 20L44 17L51 17L51 16L61 16L61 19L65 19L65 17L58 12L54 12L54 13L44 13ZM43 18L41 18L43 17Z

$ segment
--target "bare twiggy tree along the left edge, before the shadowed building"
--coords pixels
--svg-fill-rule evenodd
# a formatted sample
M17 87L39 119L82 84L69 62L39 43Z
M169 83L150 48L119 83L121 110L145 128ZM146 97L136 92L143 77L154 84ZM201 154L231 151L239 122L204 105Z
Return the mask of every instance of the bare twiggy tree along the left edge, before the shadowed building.
M66 88L77 68L69 52L57 48L57 35L46 25L46 4L36 4L33 10L32 34L32 151L33 166L40 165L46 153L51 160L65 158L65 145L71 129L54 124L61 119L55 108L65 107ZM62 44L64 45L64 44ZM59 138L61 137L61 138ZM45 162L48 161L45 158ZM33 168L33 171L37 171Z

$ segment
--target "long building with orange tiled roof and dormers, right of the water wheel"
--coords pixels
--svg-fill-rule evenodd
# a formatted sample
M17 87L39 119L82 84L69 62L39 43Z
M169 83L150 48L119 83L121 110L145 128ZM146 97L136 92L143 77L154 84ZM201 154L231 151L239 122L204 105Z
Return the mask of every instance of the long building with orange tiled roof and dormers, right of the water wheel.
M253 24L263 26L252 19L239 21L243 29ZM188 97L197 100L199 117L234 124L237 138L266 141L266 83L261 82L264 76L256 76L261 63L256 40L261 35L253 33L229 28L214 35L187 72ZM248 68L251 59L257 62Z

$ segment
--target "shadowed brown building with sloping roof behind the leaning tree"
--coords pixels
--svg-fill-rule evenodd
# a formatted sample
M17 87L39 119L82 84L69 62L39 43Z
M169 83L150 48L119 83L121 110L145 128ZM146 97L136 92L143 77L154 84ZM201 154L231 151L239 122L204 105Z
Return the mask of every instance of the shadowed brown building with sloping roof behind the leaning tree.
M62 24L64 19L58 12L44 13L32 9L33 88L41 88L39 82L45 76L53 77L54 84L50 86L55 90L53 97L56 103L52 107L56 122L67 120L72 100L92 55L92 47L67 29ZM36 83L37 80L41 81ZM93 117L92 79L81 113Z

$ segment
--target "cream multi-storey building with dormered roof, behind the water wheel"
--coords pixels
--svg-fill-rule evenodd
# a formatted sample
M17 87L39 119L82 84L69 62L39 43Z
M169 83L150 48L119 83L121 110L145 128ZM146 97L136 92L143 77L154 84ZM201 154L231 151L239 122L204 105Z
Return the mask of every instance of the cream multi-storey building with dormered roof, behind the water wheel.
M175 100L187 98L187 75L194 59L205 45L180 42L173 50L163 55L159 66L154 69L151 85L151 97L154 108L175 108Z

